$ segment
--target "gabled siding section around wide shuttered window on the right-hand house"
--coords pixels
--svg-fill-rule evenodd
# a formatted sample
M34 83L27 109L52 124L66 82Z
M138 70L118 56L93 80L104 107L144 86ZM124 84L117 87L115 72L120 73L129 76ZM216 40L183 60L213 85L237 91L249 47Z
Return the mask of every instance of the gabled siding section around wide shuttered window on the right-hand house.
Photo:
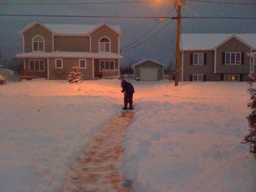
M223 52L244 52L244 64L222 64ZM230 39L216 49L216 73L219 74L249 74L250 58L246 53L250 52L250 48L238 41L236 38Z

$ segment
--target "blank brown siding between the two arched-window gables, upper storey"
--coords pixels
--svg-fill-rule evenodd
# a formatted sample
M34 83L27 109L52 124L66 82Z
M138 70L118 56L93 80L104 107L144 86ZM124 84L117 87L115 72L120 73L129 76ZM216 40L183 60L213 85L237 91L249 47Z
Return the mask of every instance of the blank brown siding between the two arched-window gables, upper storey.
M90 52L90 37L54 36L54 51Z

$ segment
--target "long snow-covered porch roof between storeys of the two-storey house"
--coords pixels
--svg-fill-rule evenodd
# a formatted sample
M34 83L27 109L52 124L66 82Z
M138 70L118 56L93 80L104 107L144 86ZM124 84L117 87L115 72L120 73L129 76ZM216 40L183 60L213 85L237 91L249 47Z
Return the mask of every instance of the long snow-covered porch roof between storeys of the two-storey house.
M66 51L54 51L54 52L28 52L19 53L15 57L18 58L94 58L94 59L122 59L116 53L90 53L90 52L66 52Z

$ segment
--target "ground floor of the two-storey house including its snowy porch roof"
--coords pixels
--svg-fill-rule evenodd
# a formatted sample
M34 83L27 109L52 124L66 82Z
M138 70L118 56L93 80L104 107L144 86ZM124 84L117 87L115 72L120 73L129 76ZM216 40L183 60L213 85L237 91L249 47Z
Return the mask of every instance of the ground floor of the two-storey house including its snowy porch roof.
M22 79L47 78L64 80L77 64L84 80L120 77L120 56L115 53L90 52L28 52L17 54L21 58ZM60 61L56 67L56 61ZM80 63L83 62L83 63ZM80 64L82 64L80 66Z

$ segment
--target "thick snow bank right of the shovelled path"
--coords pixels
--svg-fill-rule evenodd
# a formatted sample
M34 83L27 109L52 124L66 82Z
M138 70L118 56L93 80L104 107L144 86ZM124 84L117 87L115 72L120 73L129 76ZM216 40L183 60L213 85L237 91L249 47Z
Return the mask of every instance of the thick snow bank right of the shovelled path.
M240 144L244 116L188 102L142 102L136 110L124 144L135 192L255 191L256 160Z

